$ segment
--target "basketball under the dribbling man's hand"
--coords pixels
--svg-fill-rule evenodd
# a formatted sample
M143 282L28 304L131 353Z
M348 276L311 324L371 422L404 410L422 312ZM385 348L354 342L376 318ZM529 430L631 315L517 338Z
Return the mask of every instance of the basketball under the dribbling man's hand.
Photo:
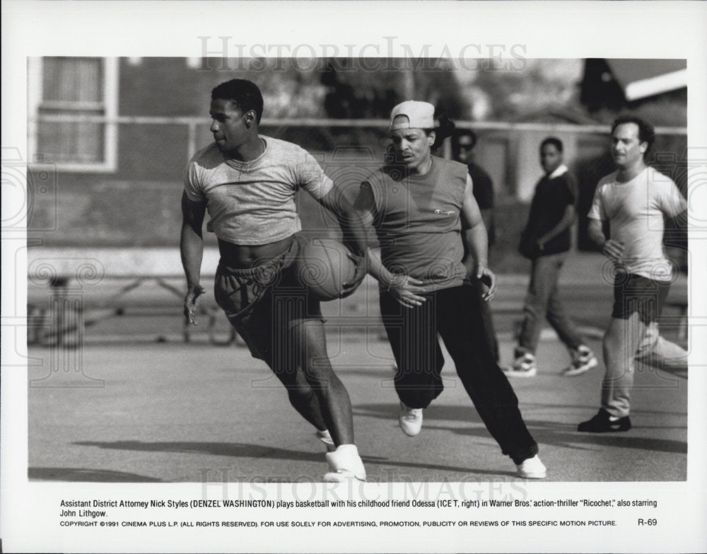
M346 246L330 238L313 238L295 263L299 281L320 300L339 298L356 272Z

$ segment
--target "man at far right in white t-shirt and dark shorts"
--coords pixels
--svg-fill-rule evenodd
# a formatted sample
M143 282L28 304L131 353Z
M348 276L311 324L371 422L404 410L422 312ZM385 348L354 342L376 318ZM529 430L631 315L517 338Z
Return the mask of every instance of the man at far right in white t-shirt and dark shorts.
M677 345L656 340L655 322L673 280L673 264L662 244L665 217L676 217L686 202L673 181L645 164L655 140L653 126L638 117L623 116L612 126L612 157L617 171L600 180L589 211L589 237L614 262L614 308L604 334L602 407L578 431L612 432L631 429L629 392L634 356L645 350L650 328L653 344L673 352ZM609 221L610 238L602 231Z

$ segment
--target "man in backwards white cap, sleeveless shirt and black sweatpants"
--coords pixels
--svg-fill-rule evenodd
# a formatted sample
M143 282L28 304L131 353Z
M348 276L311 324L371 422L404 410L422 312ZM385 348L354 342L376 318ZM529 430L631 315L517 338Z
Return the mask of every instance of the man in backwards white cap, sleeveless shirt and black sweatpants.
M423 408L442 392L439 333L469 398L518 475L544 478L518 398L485 339L479 302L491 299L496 277L486 267L486 229L472 180L464 164L432 156L439 138L434 127L433 105L409 100L395 106L395 160L362 183L356 200L380 241L380 257L369 251L369 272L380 285L380 310L398 367L399 424L405 434L418 434ZM483 295L475 289L486 285Z

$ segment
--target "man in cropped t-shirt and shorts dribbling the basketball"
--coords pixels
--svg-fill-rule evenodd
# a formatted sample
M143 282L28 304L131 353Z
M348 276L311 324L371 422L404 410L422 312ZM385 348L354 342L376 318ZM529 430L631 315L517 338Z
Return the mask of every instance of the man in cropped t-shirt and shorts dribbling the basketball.
M208 209L221 259L214 296L253 357L287 388L293 407L327 445L325 481L366 480L354 446L351 400L329 363L319 301L299 282L293 260L303 244L295 205L298 188L339 218L356 255L351 294L366 275L366 231L332 180L296 144L258 133L259 88L232 79L211 91L214 142L189 161L182 194L180 250L187 276L185 316L196 325Z

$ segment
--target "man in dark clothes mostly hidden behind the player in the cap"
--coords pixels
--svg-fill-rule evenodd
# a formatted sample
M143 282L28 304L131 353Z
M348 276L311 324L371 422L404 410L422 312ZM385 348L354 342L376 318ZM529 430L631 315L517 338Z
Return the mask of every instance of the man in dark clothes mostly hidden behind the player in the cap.
M495 233L493 228L493 181L489 173L484 168L474 162L474 146L477 145L477 135L473 131L461 131L457 134L455 141L455 158L461 163L467 164L469 176L472 178L474 200L479 204L481 219L484 220L486 231L489 234L489 249L493 246ZM498 362L498 340L496 330L493 329L493 317L491 316L491 306L489 302L481 302L481 317L484 320L486 330L486 340L489 342L491 352Z

